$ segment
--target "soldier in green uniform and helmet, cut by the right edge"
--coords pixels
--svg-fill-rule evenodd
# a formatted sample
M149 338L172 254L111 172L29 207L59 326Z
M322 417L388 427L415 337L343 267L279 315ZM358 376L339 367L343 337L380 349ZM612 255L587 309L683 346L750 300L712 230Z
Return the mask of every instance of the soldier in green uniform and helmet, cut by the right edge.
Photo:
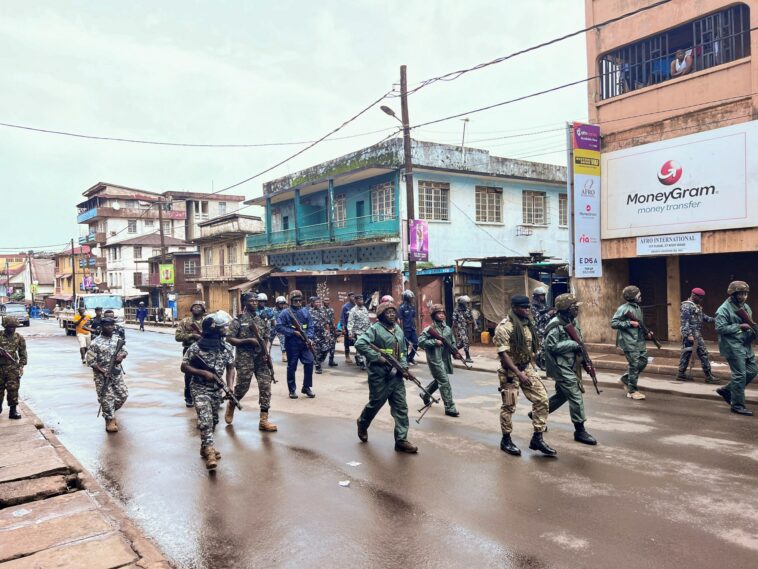
M719 352L729 363L732 380L716 393L730 406L732 413L750 416L752 411L745 407L745 386L758 374L753 353L753 341L756 339L754 327L738 314L745 311L752 321L753 311L747 305L750 287L744 281L729 283L727 298L716 311L716 333L719 337Z

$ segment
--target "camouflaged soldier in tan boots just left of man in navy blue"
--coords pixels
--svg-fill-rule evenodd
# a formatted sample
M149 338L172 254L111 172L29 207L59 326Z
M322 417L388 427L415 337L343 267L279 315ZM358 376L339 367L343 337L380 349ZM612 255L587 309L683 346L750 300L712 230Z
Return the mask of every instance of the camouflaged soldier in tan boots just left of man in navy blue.
M248 292L242 295L245 309L237 316L229 326L226 340L236 348L234 367L237 370L237 383L234 386L234 396L242 400L250 389L250 382L255 373L258 382L258 404L261 407L261 416L258 421L258 429L272 433L277 430L276 425L268 420L268 411L271 407L271 369L268 367L266 346L261 346L257 338L267 338L265 321L260 317L260 296ZM252 329L255 327L258 334ZM265 341L265 340L264 340ZM234 421L234 403L226 404L224 420L228 425Z

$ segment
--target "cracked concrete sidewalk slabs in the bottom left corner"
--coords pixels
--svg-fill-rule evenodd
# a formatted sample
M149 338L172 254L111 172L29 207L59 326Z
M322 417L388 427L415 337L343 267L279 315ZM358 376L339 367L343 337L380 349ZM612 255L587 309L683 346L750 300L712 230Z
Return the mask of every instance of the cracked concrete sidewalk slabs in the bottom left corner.
M0 417L0 568L169 568L151 541L23 403Z

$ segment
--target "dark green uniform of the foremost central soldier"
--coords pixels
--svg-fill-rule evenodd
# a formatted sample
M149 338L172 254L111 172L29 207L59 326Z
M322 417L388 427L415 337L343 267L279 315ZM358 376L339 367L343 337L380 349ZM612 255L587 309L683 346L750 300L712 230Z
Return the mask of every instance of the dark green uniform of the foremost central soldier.
M358 418L358 424L368 429L379 410L389 402L390 413L395 419L395 441L404 441L408 438L408 403L405 400L403 376L398 375L393 368L377 362L381 354L369 347L369 344L374 344L383 353L392 354L404 368L408 368L405 336L397 324L390 330L381 322L375 322L364 334L358 336L355 349L369 362L369 401Z

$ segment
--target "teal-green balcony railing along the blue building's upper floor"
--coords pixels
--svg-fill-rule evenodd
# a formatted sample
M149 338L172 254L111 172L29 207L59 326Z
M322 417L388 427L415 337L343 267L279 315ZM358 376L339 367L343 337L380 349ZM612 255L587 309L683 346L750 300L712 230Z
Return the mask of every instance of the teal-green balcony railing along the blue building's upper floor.
M334 238L329 237L329 224L304 225L297 229L271 232L271 242L265 233L248 235L246 251L268 251L289 249L299 246L334 243L344 245L354 241L392 239L400 236L400 223L397 218L373 221L372 216L354 217L335 222Z

